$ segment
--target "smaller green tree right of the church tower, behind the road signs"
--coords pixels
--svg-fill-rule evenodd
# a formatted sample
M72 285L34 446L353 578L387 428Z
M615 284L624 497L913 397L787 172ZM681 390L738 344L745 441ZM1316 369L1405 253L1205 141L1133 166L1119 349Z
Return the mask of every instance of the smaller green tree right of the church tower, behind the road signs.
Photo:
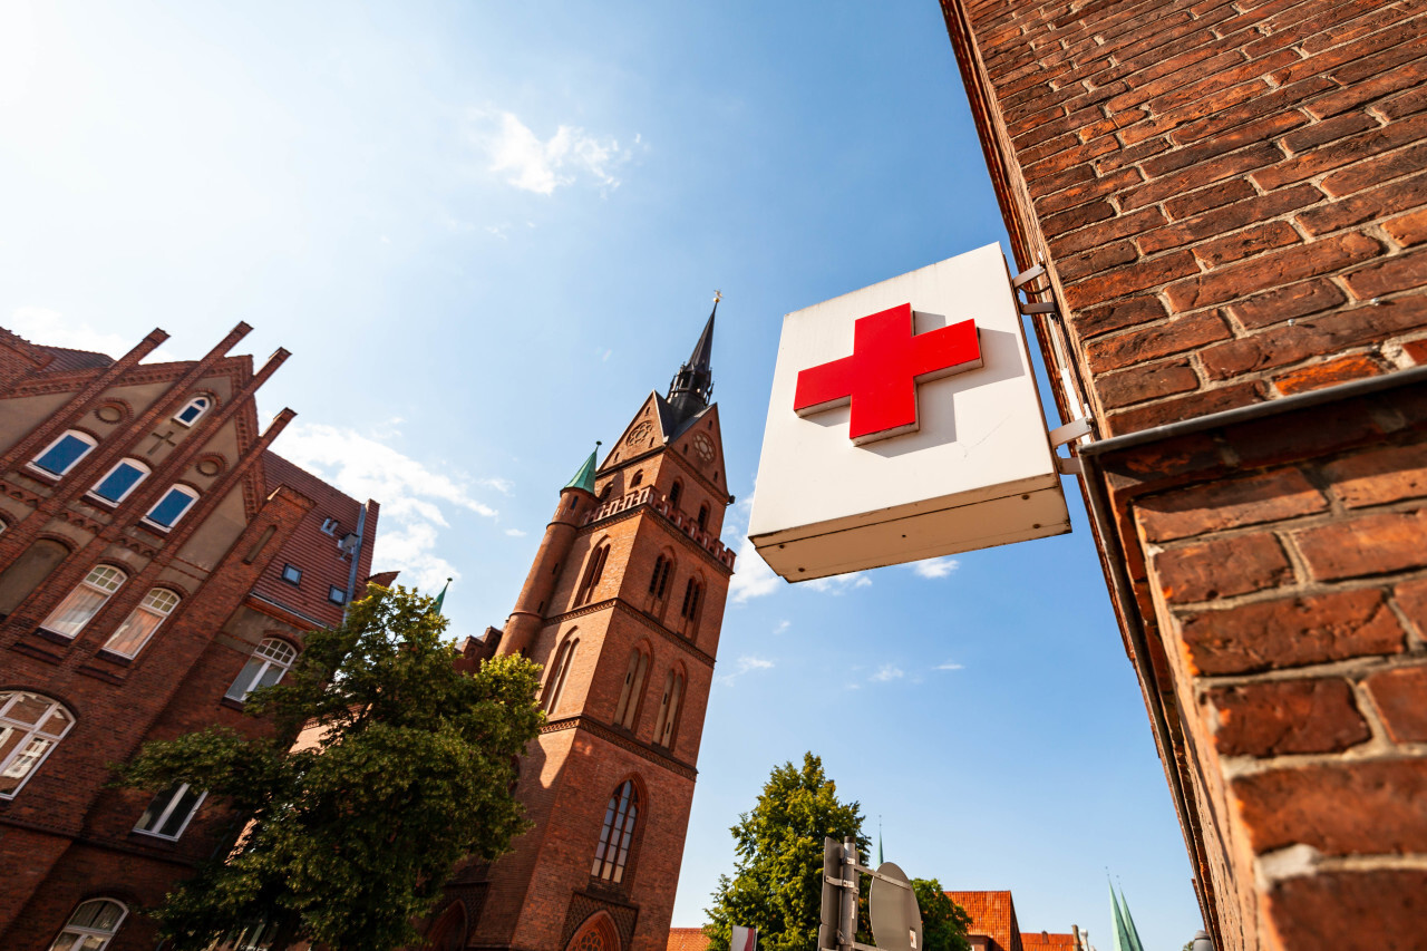
M728 951L732 927L758 928L763 951L815 951L822 907L822 841L855 835L866 860L862 814L839 802L822 760L808 753L802 768L776 767L752 811L733 832L733 877L719 875L708 908L709 951ZM863 880L866 885L869 880ZM865 938L859 938L865 940Z

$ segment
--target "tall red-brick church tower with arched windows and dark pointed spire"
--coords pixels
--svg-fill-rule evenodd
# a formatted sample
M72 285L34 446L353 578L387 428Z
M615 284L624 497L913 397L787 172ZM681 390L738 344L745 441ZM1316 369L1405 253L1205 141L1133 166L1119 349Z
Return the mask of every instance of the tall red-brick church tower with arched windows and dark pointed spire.
M545 665L548 723L517 788L535 825L457 877L432 947L665 948L733 573L715 314L668 396L561 491L515 610L487 633L481 653Z

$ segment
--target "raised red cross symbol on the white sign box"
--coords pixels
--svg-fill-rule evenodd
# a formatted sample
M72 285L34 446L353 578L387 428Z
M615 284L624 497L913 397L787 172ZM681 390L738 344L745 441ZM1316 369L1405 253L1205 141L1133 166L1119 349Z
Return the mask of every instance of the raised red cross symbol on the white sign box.
M916 384L982 366L976 321L915 333L912 304L859 317L852 356L798 373L793 411L809 416L852 403L849 436L858 446L915 433Z

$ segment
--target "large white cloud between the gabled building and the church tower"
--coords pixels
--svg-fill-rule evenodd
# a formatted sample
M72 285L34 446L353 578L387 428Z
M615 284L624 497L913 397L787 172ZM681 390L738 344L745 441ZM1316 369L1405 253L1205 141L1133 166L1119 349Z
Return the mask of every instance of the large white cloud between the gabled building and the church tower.
M432 471L384 443L335 426L291 426L275 448L348 495L381 503L375 570L400 568L404 581L430 590L461 577L435 554L438 530L450 527L444 507L495 518L497 510L478 498L472 485L509 488L499 478L472 481Z

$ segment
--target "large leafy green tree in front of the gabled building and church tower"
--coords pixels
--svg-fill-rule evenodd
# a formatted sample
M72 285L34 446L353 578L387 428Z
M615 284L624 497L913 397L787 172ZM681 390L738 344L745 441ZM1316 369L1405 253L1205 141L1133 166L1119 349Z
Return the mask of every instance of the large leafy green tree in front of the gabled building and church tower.
M154 911L174 951L267 920L278 947L337 951L420 941L465 855L492 860L528 822L512 797L517 757L544 717L539 667L495 658L457 667L447 621L407 588L370 588L345 624L307 637L283 684L245 711L275 738L208 728L146 744L120 783L150 791L190 783L240 817L218 850ZM304 730L315 743L294 750Z

